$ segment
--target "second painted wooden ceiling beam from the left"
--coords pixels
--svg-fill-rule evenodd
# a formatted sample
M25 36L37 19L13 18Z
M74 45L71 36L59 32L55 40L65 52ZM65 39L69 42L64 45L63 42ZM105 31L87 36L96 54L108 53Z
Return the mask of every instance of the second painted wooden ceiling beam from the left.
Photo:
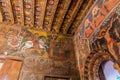
M15 23L24 26L23 0L11 0Z

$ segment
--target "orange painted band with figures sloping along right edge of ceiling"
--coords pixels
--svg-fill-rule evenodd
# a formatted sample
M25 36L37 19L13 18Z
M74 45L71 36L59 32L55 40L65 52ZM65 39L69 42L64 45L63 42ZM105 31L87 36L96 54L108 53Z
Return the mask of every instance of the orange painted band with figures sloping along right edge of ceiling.
M119 3L119 0L98 0L84 18L80 36L88 38L99 27L106 15Z

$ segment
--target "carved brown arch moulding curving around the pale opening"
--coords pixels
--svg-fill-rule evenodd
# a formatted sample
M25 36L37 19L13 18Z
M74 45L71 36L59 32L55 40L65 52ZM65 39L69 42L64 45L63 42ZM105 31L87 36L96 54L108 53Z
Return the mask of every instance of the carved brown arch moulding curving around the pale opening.
M108 53L102 50L94 50L91 52L85 62L84 80L100 80L98 75L99 66L107 60L113 61Z

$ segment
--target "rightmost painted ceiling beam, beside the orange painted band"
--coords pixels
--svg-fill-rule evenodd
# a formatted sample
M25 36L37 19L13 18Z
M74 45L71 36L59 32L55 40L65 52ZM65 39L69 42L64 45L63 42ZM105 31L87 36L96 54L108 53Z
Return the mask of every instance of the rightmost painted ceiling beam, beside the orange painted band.
M94 3L95 0L85 0L83 5L81 6L79 12L77 13L76 19L73 21L68 34L74 35L76 29L82 22L82 19L85 17L89 9L91 8L92 4Z

